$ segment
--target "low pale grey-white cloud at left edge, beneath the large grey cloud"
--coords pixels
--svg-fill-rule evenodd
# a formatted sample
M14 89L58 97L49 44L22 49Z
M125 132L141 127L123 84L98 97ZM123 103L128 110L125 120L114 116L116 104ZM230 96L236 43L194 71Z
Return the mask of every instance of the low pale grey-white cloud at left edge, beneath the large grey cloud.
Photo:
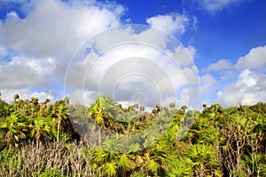
M0 65L0 89L21 89L28 86L45 86L56 69L53 58L12 58Z

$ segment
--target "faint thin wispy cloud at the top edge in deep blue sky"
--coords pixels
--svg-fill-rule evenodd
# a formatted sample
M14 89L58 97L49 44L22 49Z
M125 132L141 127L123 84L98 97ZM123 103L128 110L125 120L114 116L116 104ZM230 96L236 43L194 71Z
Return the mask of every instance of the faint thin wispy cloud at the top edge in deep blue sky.
M230 7L232 4L242 3L243 0L196 0L207 12L214 14Z

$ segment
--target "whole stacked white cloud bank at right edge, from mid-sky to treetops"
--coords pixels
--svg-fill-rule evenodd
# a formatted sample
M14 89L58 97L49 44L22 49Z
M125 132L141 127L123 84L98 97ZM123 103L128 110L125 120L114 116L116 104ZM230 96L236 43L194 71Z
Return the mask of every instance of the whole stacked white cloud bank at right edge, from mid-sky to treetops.
M263 73L266 64L265 56L266 46L259 46L251 49L246 56L239 58L235 65L227 59L208 65L204 71L209 73L201 77L202 96L209 100L213 93L216 95L216 98L212 97L213 103L219 103L225 107L265 102L266 75ZM216 79L219 82L215 81ZM204 92L208 96L205 96Z

